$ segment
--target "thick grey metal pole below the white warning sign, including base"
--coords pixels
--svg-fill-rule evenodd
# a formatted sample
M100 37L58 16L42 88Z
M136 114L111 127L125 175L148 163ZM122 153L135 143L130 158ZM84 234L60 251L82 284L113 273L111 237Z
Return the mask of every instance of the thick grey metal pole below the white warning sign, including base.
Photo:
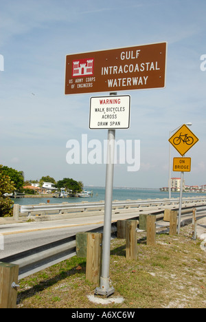
M111 93L110 95L117 95ZM95 295L109 295L115 292L110 285L109 265L110 265L110 244L111 244L111 216L113 202L113 173L115 155L115 129L108 129L107 140L107 160L106 160L106 184L104 202L104 231L103 231L103 250L102 250L102 275L100 277L100 288L95 289Z

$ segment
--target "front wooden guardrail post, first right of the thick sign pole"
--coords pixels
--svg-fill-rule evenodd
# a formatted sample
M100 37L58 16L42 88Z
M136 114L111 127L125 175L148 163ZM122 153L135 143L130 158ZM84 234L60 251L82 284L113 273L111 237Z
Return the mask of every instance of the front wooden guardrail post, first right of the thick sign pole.
M137 259L137 220L126 220L126 259Z

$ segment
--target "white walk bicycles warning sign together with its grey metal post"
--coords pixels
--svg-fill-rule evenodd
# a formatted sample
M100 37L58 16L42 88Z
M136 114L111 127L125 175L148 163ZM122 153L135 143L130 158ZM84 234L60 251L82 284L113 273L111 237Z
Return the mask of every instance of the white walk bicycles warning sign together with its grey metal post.
M115 96L115 98L111 98L111 96ZM106 295L108 297L115 292L114 288L110 286L109 278L113 172L115 160L115 129L128 129L129 127L130 96L117 96L117 93L111 93L108 97L93 97L91 98L90 102L90 129L108 129L102 275L100 277L100 287L95 289L95 294ZM113 119L113 116L115 116L115 122L104 122L104 119L111 120Z

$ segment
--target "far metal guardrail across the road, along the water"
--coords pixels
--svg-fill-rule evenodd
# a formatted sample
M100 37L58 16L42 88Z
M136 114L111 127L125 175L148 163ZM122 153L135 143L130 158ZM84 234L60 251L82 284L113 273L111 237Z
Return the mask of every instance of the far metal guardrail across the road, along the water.
M206 202L206 197L189 197L183 198L183 204L185 203L195 203L195 202ZM161 199L161 200L126 200L126 201L114 201L113 208L128 208L134 207L138 208L141 206L162 206L162 205L172 205L179 204L179 198L172 199ZM87 211L87 210L95 210L95 208L104 208L104 202L81 202L78 204L70 204L70 203L62 203L62 204L39 204L39 205L27 205L21 206L20 213L31 213L44 211L45 213L49 211L57 211L61 213L61 211L69 210L69 211Z

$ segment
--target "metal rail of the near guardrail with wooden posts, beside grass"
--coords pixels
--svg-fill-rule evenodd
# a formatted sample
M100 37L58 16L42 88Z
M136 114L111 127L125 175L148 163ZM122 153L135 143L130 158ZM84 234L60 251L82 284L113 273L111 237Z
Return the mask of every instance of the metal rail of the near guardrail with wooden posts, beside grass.
M199 205L197 211L202 211L203 208L206 208L206 205ZM182 213L192 214L192 209L193 206L185 207L185 209L182 210ZM157 220L161 220L163 219L163 211L163 209L157 211L153 210L152 215L156 215ZM148 209L148 213L150 213L150 209ZM139 219L139 215L137 215L137 217L132 217L131 219ZM114 222L112 223L111 233L113 234L116 231L117 223ZM103 226L89 230L89 232L102 233ZM43 270L75 255L76 235L73 235L65 239L60 239L43 246L26 250L16 255L2 258L0 261L19 265L19 279L23 279L24 277L34 274L34 272Z

